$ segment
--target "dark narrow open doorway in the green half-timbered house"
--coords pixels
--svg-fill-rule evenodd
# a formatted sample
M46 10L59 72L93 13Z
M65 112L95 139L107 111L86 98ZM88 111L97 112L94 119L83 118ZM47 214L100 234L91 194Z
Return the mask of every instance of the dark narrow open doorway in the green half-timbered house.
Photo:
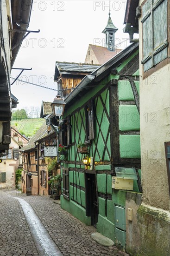
M96 175L86 174L86 216L91 217L91 225L96 227L98 222L98 197L96 187Z

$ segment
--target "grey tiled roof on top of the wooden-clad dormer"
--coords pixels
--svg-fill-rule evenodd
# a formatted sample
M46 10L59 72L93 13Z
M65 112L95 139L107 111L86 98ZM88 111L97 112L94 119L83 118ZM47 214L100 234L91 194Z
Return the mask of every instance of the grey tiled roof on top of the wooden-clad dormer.
M56 61L56 66L60 73L67 72L81 72L81 73L91 73L97 69L100 65L92 65L86 63L75 63L75 62L58 62Z

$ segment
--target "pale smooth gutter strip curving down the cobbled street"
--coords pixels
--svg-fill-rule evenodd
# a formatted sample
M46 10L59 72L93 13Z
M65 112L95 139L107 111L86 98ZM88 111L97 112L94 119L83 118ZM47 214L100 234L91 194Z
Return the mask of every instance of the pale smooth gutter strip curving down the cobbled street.
M34 243L38 250L39 256L63 256L57 245L50 237L43 223L32 209L31 205L24 199L13 197L20 203L25 215L25 219L31 231Z

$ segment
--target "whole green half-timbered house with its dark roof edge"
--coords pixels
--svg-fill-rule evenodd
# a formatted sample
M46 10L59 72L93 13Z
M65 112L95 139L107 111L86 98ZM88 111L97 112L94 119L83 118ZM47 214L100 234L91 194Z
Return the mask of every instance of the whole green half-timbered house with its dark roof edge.
M142 192L138 43L87 75L64 101L59 139L67 154L60 155L61 207L125 247L126 202L139 204ZM86 153L78 152L80 143L87 146ZM84 157L90 162L87 168ZM113 177L130 180L133 188L120 182L120 189L113 189Z

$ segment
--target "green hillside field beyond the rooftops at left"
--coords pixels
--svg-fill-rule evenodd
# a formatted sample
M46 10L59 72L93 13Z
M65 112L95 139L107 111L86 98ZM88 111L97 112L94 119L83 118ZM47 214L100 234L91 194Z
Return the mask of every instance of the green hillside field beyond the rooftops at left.
M24 134L27 137L32 137L44 122L44 118L28 118L13 120L11 121L11 126L15 126L21 134Z

